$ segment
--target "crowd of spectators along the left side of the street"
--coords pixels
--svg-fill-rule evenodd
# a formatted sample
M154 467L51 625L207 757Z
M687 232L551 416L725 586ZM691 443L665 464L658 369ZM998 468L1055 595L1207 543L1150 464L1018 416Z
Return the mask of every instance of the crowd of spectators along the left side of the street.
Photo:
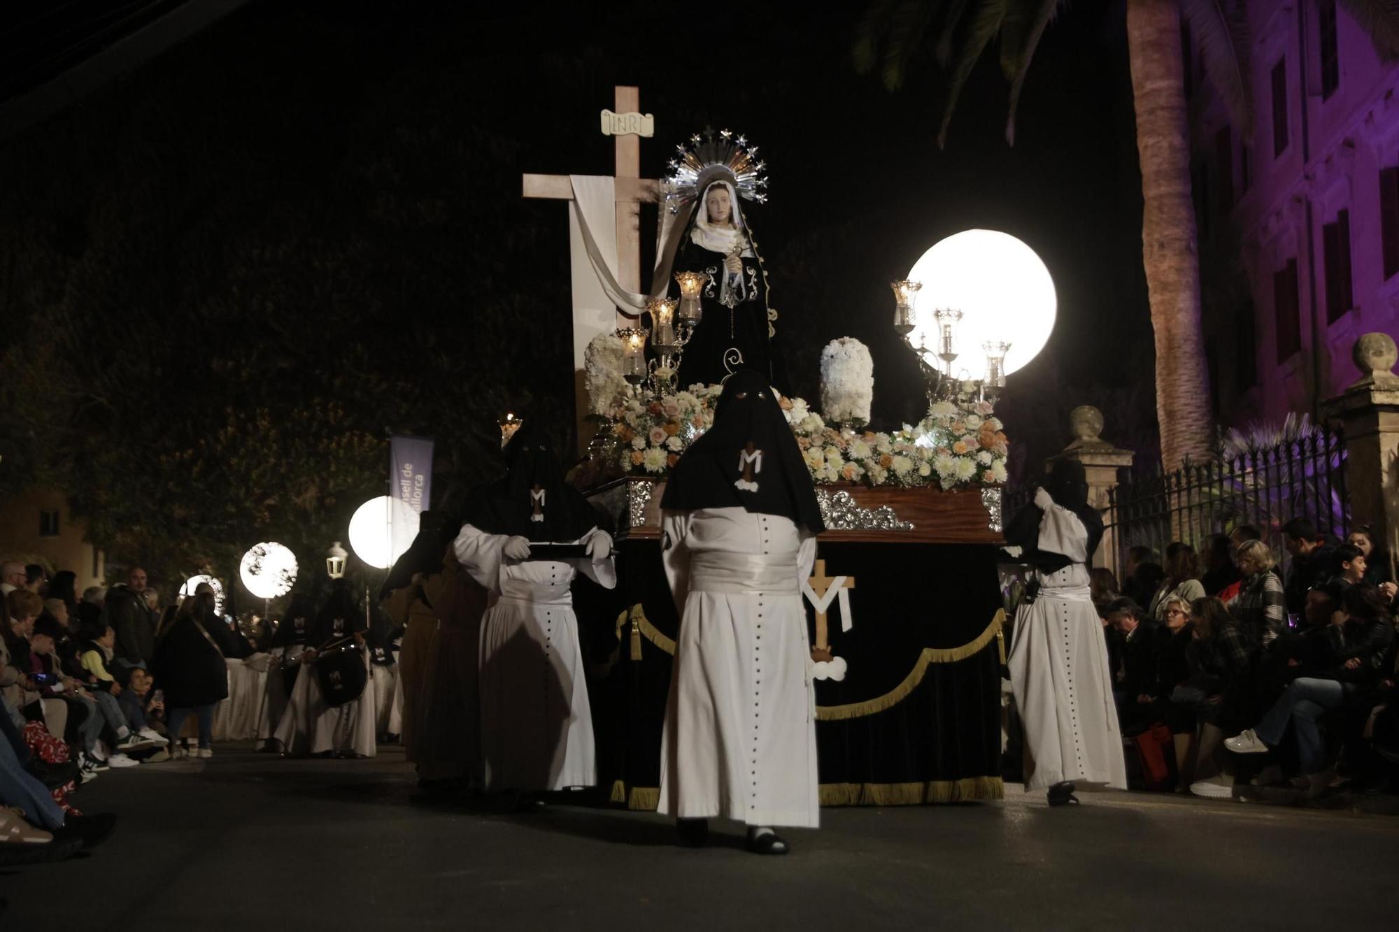
M140 567L80 596L73 572L0 564L0 866L101 844L115 816L78 807L99 775L213 756L224 658L250 652L214 606L206 585L162 612Z

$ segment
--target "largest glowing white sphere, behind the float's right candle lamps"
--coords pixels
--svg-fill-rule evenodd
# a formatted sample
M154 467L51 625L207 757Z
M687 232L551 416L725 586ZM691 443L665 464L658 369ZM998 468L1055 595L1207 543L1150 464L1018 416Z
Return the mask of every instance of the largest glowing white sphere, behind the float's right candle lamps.
M1049 341L1058 306L1053 280L1035 250L1010 234L967 230L951 235L925 252L908 277L923 285L915 305L918 322L909 334L914 346L921 341L929 348L939 346L933 311L963 312L954 330L953 375L965 369L971 378L985 376L983 343L1010 344L1006 354L1010 374Z

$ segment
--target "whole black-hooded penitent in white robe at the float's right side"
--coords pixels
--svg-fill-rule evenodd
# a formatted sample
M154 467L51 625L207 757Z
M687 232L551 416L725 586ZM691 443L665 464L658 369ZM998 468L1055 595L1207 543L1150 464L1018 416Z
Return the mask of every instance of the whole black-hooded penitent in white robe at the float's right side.
M1009 668L1025 730L1025 789L1048 789L1051 806L1077 802L1076 782L1126 789L1108 647L1088 592L1101 539L1083 463L1066 459L1006 526L1006 540L1035 568Z

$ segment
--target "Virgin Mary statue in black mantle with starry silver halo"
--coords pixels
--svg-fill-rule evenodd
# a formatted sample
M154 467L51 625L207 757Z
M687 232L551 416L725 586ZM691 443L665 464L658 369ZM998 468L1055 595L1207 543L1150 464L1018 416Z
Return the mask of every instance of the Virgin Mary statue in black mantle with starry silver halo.
M776 312L768 305L768 277L740 206L767 202L767 165L757 151L729 132L697 134L670 164L669 294L680 298L680 323L695 309L702 315L680 358L681 388L716 385L739 365L762 372L769 383L782 376L774 371ZM684 297L686 276L697 299Z

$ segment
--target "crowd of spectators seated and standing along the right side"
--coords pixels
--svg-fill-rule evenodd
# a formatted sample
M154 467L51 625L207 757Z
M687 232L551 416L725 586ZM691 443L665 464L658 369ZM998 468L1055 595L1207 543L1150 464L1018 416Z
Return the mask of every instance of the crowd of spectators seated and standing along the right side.
M1240 784L1393 789L1399 589L1368 528L1281 526L1286 578L1258 528L1198 554L1133 547L1125 585L1094 571L1123 736L1142 784L1230 798Z

